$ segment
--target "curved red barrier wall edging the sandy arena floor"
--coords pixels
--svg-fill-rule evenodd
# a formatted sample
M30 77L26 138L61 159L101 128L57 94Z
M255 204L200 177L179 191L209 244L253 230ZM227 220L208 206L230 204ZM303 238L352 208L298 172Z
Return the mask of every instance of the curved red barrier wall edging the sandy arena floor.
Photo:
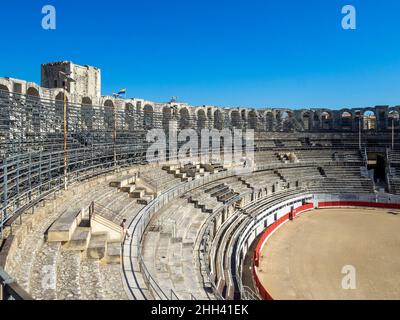
M324 208L324 207L371 207L371 208L386 208L386 209L400 209L400 203L379 203L379 202L366 202L366 201L326 201L326 202L319 202L318 203L319 208ZM296 208L293 210L292 214L293 217L296 215L311 210L314 208L314 205L312 203L303 205L299 208ZM272 225L270 225L263 235L261 236L260 240L257 243L257 247L254 250L253 254L253 279L255 282L255 285L258 289L258 292L260 296L264 300L273 300L271 295L268 293L268 291L264 288L264 286L261 284L260 280L258 279L257 272L256 272L256 267L258 267L259 259L260 259L260 250L268 236L273 233L278 226L280 226L283 222L285 222L287 219L289 219L289 213L284 215L282 218L279 220L275 221Z

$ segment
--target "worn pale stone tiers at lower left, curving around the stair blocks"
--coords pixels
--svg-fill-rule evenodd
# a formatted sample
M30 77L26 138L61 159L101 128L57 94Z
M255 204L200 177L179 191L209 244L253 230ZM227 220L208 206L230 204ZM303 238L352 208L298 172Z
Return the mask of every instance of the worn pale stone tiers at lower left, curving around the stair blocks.
M61 194L54 205L46 206L45 219L35 220L21 237L18 250L7 260L7 272L35 299L126 299L119 265L100 266L98 260L87 259L79 250L71 251L63 242L47 242L44 238L49 226L64 212L78 212L90 199L102 201L111 194L115 195L116 190L107 182L91 183L86 192ZM14 232L22 230L16 228Z

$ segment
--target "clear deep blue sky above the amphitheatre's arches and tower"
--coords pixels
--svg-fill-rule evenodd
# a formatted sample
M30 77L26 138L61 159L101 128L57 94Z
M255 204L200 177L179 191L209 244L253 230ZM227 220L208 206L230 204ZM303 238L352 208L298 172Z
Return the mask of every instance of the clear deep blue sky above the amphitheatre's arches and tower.
M5 1L4 1L5 2ZM41 8L57 29L41 28ZM357 9L357 30L341 8ZM40 64L102 70L102 93L195 105L400 104L398 0L19 0L1 5L0 76Z

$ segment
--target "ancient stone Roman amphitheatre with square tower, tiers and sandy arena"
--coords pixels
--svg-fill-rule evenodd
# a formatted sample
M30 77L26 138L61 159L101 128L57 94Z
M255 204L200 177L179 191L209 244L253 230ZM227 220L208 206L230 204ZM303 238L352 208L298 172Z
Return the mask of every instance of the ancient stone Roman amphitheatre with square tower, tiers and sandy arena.
M400 298L399 106L192 106L103 96L68 61L41 76L0 78L0 298ZM149 161L171 127L252 132L254 152Z

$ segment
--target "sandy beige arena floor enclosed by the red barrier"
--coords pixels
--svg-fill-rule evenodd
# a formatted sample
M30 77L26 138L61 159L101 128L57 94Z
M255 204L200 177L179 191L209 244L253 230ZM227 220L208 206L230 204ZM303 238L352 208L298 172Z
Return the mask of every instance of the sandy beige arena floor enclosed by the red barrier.
M356 289L342 287L347 265L355 268ZM400 299L400 212L304 213L269 238L258 274L274 299Z

